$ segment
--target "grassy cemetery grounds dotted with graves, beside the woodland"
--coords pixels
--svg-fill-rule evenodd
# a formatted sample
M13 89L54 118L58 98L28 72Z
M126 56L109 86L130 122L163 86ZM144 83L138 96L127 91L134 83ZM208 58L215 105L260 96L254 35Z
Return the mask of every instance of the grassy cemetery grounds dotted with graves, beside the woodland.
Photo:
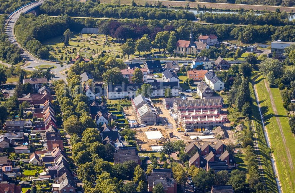
M75 58L77 56L77 53L80 54L80 56L90 58L92 56L93 58L100 54L103 50L106 51L106 53L111 55L121 55L121 48L120 43L117 43L116 41L110 42L108 44L105 44L106 37L104 35L96 35L96 34L81 34L81 36L78 36L78 34L74 34L72 38L69 41L69 46L63 48L63 36L58 36L56 38L49 39L47 41L42 42L44 45L51 46L53 50L50 50L50 55L54 56L53 61L65 61L68 60L68 58L71 56L72 58ZM112 37L109 37L109 40L112 40ZM123 42L124 43L124 42ZM58 50L61 50L58 52ZM74 52L73 52L74 49ZM68 54L68 51L71 51L71 54ZM146 54L151 54L153 52L159 51L158 49L151 49L150 52L146 52ZM163 51L163 49L162 49ZM141 52L140 54L144 54ZM61 59L61 56L63 59ZM135 54L130 55L130 59L136 58L139 56L138 52L135 52ZM65 58L66 57L66 58ZM126 58L127 59L127 55Z

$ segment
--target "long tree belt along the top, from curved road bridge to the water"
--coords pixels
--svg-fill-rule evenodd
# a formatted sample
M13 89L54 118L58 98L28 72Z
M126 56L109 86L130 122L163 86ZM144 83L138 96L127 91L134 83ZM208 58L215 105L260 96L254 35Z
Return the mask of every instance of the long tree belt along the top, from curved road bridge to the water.
M188 19L194 20L195 15L189 11L174 11L167 8L150 8L137 6L121 6L114 4L100 4L99 1L80 1L67 0L49 0L40 6L44 14L60 15L68 14L69 16L83 17L107 17L107 18L143 18L143 19Z

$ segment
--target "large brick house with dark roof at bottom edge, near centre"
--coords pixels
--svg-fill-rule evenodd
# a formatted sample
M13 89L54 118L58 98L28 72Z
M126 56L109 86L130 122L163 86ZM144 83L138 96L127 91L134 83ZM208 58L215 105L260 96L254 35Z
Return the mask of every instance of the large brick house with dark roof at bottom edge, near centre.
M162 184L165 193L177 192L177 181L173 178L172 169L153 169L148 176L148 191L153 191L157 184Z

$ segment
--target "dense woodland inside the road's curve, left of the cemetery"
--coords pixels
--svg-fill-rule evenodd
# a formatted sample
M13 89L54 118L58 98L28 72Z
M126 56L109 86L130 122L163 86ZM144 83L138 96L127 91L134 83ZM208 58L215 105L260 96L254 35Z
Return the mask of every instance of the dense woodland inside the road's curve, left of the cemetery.
M47 15L38 17L32 14L22 14L15 26L18 42L31 54L47 59L49 48L42 45L42 41L62 35L66 29L79 31L82 25L68 16L52 18Z

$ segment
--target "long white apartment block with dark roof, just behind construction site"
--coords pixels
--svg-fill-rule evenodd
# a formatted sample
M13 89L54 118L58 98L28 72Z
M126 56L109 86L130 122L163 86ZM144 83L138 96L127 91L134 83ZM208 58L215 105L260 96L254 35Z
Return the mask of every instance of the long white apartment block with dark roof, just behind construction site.
M170 87L173 96L178 96L179 86L178 82L151 82L152 94L151 96L165 96L165 89ZM107 97L108 99L123 99L124 97L134 98L136 91L142 84L108 84Z

